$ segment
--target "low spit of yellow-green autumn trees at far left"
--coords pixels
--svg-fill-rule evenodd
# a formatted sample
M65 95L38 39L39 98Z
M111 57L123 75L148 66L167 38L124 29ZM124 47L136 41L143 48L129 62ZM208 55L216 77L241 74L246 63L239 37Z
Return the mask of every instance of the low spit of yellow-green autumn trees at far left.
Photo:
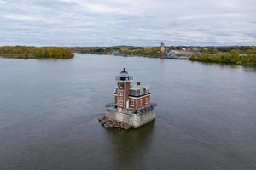
M61 47L3 46L0 56L15 59L72 59L73 51Z

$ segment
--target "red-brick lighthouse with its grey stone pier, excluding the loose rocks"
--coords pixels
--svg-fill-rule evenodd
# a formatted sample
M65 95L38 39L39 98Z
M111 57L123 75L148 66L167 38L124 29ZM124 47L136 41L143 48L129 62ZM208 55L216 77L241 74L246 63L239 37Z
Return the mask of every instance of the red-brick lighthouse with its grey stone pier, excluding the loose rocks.
M115 122L124 122L132 128L141 127L155 119L156 104L150 103L148 86L137 82L131 85L131 77L125 68L115 77L114 102L106 104L104 117Z

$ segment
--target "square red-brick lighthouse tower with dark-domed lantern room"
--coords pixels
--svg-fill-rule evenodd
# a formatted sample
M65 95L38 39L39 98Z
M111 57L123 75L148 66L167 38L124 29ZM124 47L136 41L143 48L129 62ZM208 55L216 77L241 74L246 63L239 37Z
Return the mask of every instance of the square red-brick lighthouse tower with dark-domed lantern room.
M115 77L117 81L117 88L115 91L114 103L116 104L118 111L124 111L129 108L129 95L132 77L129 76L128 72L120 72L120 75Z

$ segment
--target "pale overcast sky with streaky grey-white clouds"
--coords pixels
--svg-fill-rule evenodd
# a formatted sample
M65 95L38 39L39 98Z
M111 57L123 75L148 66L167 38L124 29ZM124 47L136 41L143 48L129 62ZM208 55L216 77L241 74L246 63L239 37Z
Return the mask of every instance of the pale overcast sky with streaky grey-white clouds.
M0 0L0 45L256 45L256 0Z

